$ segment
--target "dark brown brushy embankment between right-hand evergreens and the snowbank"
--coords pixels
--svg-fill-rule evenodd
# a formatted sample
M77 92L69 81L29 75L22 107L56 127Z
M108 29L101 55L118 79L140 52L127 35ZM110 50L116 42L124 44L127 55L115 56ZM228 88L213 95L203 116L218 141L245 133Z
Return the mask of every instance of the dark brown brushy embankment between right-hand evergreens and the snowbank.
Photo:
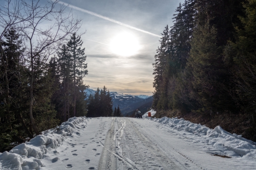
M205 125L211 129L216 126L221 126L229 133L236 133L242 135L244 138L256 141L256 125L253 121L255 117L251 114L232 114L232 113L181 113L176 110L160 110L157 111L154 117L178 117L184 118L189 122Z

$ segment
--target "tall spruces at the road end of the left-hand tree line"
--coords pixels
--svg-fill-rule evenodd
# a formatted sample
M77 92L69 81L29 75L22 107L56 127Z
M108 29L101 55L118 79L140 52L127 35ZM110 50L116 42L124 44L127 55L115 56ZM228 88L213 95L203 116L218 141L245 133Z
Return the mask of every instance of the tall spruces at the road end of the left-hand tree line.
M82 40L74 33L67 44L63 44L58 51L58 58L52 58L52 70L56 70L55 77L60 80L59 91L55 96L58 115L62 121L69 117L86 115L85 90L88 86L83 84L83 78L88 74ZM55 64L54 64L55 63Z

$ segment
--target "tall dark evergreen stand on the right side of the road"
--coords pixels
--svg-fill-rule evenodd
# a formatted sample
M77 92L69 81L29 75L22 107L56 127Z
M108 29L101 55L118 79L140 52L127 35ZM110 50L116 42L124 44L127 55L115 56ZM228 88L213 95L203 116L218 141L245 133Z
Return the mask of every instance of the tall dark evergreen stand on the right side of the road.
M256 1L185 0L155 55L157 110L255 119ZM255 123L254 123L255 124Z

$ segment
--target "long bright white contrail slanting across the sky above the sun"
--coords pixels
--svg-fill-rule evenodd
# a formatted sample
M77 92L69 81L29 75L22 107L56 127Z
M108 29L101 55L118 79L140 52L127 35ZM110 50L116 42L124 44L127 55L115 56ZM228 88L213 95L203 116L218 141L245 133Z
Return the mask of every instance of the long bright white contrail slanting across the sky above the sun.
M63 4L63 5L68 6L68 7L71 7L71 8L73 8L73 9L76 9L76 10L78 10L78 11L82 11L82 12L88 13L88 14L90 14L90 15L97 16L97 17L102 18L102 19L105 19L105 20L109 20L109 21L114 22L114 23L117 23L117 24L119 24L119 25L121 25L121 26L130 28L130 29L133 29L133 30L140 31L140 32L142 32L142 33L150 34L150 35L153 35L153 36L156 36L156 37L161 37L161 36L159 36L159 35L157 35L157 34L153 34L153 33L150 33L150 32L147 32L147 31L144 31L144 30L141 30L141 29L132 27L132 26L129 26L129 25L125 24L125 23L122 23L122 22L119 22L119 21L117 21L117 20L115 20L115 19L112 19L112 18L103 16L103 15L97 14L97 13L92 12L92 11L88 11L88 10L85 10L85 9L82 9L82 8L79 8L79 7L76 7L76 6L73 6L73 5L70 5L70 4L61 2L61 1L59 1L58 3L59 3L59 4Z

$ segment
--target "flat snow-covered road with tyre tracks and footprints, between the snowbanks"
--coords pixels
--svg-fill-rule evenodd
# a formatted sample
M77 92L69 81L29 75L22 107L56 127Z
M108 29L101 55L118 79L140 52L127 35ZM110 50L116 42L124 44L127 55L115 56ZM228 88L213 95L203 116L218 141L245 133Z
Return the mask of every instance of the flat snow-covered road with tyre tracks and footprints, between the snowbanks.
M167 121L166 118L161 119L163 120ZM47 170L255 169L256 167L254 157L247 159L245 156L231 158L214 156L223 155L223 150L202 140L200 135L166 126L159 121L160 119L127 117L86 118L84 122L73 126L72 132L59 146L46 147L48 150L40 159L42 165L39 166L38 163L38 166L34 167ZM212 137L212 140L217 141L217 139ZM250 152L254 153L256 148L254 145L252 147L254 148ZM249 152L246 154L248 155ZM27 159L32 161L31 156L25 157L24 160ZM0 169L1 163L3 169L14 169L8 166L8 161L1 160L0 155ZM23 162L23 170L32 169L31 167L31 163Z

